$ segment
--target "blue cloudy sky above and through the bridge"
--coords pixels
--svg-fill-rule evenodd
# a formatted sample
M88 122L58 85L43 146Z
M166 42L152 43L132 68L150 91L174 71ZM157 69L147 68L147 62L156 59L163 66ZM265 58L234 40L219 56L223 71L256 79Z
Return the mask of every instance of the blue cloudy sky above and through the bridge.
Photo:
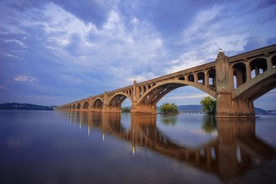
M276 43L276 1L0 1L0 103L61 105ZM199 104L192 87L159 104ZM276 90L255 106L276 109ZM129 102L124 102L128 105Z

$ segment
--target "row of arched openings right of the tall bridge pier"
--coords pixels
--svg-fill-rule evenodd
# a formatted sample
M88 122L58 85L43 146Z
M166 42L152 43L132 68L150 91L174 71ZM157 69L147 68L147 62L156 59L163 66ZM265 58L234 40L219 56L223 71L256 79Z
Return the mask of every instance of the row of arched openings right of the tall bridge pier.
M233 89L239 88L246 81L266 72L270 68L275 68L275 66L276 55L271 57L271 59L260 57L252 61L235 63L232 67Z

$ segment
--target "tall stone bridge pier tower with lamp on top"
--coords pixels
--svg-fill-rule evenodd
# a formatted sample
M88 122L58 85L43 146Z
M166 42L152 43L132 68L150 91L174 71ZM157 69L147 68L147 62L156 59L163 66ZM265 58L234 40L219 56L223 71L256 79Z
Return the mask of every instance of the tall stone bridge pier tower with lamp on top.
M250 100L233 99L233 68L228 63L228 57L219 50L216 67L217 83L217 117L255 117L254 104ZM242 72L237 72L237 83L242 80Z

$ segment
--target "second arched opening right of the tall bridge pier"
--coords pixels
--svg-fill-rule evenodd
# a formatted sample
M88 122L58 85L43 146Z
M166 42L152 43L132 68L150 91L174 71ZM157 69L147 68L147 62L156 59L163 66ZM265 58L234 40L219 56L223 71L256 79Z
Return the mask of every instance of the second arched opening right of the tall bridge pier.
M251 78L262 74L267 70L267 61L264 58L254 59L250 62Z

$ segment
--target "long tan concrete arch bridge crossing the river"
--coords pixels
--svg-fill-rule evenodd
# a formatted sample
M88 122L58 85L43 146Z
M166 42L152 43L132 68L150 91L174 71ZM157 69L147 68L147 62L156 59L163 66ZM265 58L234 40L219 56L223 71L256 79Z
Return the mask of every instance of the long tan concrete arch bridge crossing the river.
M156 114L156 104L168 92L187 85L217 99L218 117L255 116L253 101L276 87L276 44L150 79L124 88L105 91L57 107L57 110L121 112L131 101L132 113Z

